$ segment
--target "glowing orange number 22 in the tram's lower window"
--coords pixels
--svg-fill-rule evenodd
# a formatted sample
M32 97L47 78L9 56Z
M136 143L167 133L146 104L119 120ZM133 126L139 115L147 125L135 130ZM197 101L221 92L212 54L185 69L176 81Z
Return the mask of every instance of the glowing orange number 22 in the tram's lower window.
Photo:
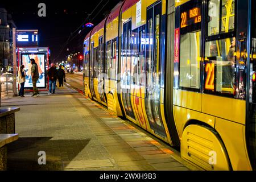
M207 78L205 80L206 90L214 90L214 66L214 63L205 65L205 72L207 73Z

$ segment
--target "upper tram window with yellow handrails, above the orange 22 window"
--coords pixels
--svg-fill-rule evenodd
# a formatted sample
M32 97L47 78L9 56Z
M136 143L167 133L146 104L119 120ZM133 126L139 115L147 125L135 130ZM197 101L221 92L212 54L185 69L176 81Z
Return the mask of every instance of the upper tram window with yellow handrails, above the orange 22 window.
M235 0L210 0L208 3L208 16L208 36L234 31Z

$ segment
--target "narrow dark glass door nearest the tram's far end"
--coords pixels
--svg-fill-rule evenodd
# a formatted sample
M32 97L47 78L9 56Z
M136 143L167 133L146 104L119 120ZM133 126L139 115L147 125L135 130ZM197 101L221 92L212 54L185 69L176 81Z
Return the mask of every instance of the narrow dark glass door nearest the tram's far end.
M97 100L94 87L93 87L93 80L94 80L94 75L96 75L96 70L95 70L95 65L94 65L94 56L96 55L96 48L94 48L94 42L91 44L90 48L90 91L92 92L92 97L94 100Z

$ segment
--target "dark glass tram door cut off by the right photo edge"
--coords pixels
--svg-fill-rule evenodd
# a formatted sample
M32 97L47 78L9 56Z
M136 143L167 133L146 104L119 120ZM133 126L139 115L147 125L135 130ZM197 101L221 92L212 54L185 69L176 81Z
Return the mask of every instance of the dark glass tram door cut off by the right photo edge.
M247 109L247 148L251 167L253 170L256 170L256 2L251 1L251 3L251 51L249 63L249 105Z

